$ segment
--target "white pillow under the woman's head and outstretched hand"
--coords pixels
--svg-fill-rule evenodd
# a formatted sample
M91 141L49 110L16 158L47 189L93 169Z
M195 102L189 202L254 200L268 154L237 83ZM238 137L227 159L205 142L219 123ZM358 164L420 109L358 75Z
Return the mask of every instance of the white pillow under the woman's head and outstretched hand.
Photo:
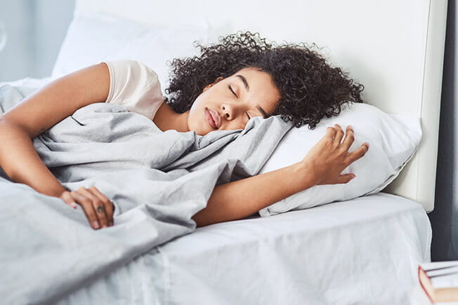
M353 172L356 177L346 184L318 185L289 196L259 211L270 216L289 210L303 210L316 205L345 201L381 191L398 176L412 158L421 140L419 118L386 114L377 107L362 103L343 105L339 116L323 118L314 130L308 126L293 127L280 141L260 173L270 172L301 161L308 151L326 134L326 128L339 124L345 132L353 126L354 151L369 142L369 151L353 162L343 174Z

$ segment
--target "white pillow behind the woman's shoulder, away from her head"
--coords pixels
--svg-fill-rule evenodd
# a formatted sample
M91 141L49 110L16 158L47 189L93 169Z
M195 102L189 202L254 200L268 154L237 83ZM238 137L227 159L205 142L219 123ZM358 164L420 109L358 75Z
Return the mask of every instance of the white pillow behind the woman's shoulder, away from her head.
M208 44L208 25L157 27L110 15L77 13L67 30L53 67L53 79L102 61L140 60L155 70L164 94L167 60L198 54L193 41Z

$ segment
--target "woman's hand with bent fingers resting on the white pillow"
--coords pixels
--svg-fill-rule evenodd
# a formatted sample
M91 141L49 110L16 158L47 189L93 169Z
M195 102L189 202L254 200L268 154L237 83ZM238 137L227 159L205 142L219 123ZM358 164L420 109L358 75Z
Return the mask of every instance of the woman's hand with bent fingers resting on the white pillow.
M306 165L315 177L315 185L347 183L354 174L341 175L341 172L351 163L364 156L369 149L369 143L365 142L358 149L349 153L351 144L355 140L353 128L347 126L345 139L343 130L339 125L328 127L326 135L320 142L315 144L301 161Z

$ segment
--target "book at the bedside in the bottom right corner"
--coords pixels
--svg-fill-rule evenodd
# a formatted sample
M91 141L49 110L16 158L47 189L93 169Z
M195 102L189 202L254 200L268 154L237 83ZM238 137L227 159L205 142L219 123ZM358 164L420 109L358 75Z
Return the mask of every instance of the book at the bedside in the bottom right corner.
M458 261L419 264L418 278L433 303L458 301Z

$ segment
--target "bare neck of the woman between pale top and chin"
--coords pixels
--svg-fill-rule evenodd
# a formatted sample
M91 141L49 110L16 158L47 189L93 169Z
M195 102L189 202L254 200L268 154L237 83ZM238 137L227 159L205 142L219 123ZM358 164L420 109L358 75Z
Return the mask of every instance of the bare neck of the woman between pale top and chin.
M176 130L179 132L186 132L189 131L188 116L189 111L178 114L174 109L171 109L169 104L164 102L161 107L157 109L156 115L152 121L162 131Z

